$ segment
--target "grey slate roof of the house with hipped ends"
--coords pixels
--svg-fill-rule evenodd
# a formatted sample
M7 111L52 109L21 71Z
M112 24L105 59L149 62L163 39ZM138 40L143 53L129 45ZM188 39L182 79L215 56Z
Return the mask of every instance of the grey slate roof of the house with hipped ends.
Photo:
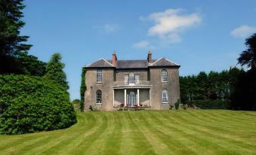
M99 59L96 62L91 63L90 65L86 65L86 68L117 68L117 69L125 69L125 68L149 68L149 67L180 67L175 62L171 62L164 57L153 60L152 63L148 63L147 59L143 60L116 60L116 66L111 64L111 60Z

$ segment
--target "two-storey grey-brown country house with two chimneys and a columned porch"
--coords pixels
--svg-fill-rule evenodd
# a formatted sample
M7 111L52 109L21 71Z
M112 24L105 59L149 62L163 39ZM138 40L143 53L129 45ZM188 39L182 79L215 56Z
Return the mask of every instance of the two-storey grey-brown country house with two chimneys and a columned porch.
M179 68L164 57L152 59L98 59L85 66L85 111L120 107L142 107L151 110L169 109L180 99Z

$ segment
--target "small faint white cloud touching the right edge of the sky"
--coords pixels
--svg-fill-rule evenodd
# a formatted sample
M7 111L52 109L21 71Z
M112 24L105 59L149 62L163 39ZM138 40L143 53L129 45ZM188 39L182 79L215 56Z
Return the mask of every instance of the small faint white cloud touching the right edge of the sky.
M233 29L230 35L235 38L246 38L254 32L256 32L256 27L243 25Z

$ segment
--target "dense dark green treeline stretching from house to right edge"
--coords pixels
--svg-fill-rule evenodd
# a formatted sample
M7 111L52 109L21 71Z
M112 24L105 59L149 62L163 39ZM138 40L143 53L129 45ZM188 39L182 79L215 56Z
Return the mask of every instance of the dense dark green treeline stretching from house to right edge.
M256 70L230 68L180 77L180 100L199 108L256 110Z

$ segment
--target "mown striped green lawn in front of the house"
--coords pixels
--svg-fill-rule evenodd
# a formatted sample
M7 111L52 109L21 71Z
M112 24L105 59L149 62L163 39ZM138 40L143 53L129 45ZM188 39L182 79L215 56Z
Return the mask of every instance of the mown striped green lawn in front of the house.
M256 154L256 112L78 114L69 129L0 135L0 154Z

